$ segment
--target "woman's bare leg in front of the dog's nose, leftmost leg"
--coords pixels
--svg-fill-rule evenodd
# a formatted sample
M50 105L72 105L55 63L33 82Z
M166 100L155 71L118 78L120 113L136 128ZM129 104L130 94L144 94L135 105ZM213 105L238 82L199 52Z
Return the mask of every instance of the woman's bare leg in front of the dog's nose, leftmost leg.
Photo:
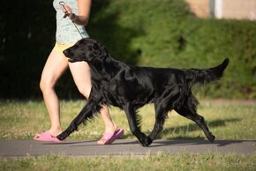
M46 108L49 112L50 129L49 133L56 137L62 132L60 123L60 108L59 101L54 90L56 81L62 76L64 71L68 68L67 58L56 51L54 48L49 54L49 58L45 63L43 71L41 73L40 88L43 95L43 99Z

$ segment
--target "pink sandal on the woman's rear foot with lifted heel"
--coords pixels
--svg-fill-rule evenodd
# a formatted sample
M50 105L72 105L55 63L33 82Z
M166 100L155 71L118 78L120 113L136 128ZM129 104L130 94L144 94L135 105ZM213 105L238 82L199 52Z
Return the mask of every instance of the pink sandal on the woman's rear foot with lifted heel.
M124 135L123 129L116 130L114 134L104 133L103 137L99 141L97 141L97 143L98 143L98 145L110 145L117 138L120 138L123 135Z

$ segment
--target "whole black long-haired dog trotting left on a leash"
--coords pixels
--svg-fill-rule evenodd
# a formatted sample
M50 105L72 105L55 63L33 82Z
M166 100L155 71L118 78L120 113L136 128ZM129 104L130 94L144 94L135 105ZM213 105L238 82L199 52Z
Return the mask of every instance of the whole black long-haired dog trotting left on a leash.
M208 130L204 118L197 114L198 100L192 94L192 85L210 83L222 77L229 59L215 68L206 70L138 67L113 59L106 48L93 39L82 39L64 50L69 62L86 61L91 68L92 90L87 105L63 133L57 136L64 140L80 123L98 114L102 105L124 109L132 134L143 146L153 142L162 130L165 118L172 109L191 119L204 131L209 141L215 136ZM155 108L154 129L149 136L141 132L137 109L153 102Z

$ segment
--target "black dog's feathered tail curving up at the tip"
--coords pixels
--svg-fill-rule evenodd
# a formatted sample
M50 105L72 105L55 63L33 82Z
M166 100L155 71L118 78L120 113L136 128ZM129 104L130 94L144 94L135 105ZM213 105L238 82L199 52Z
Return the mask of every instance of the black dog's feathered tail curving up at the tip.
M215 80L222 78L223 71L227 68L230 62L226 58L220 65L205 70L190 69L186 70L186 79L190 85L211 83Z

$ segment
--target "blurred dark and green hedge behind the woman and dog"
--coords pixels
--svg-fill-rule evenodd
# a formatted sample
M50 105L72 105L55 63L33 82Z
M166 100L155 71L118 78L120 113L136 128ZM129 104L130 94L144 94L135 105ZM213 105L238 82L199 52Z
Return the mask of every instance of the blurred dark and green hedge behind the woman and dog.
M2 5L0 99L41 99L41 71L55 44L52 1ZM256 99L255 21L199 19L184 0L94 0L87 32L111 56L139 66L208 68L230 57L221 81L194 91L202 98ZM56 92L82 98L70 71Z

